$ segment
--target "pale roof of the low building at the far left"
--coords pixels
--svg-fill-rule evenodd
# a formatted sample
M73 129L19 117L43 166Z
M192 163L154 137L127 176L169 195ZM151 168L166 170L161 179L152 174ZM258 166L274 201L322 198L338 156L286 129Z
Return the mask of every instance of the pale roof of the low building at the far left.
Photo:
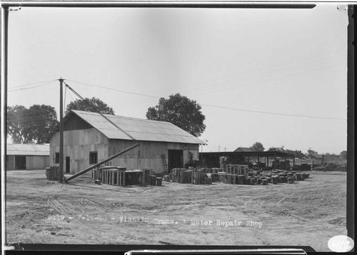
M6 155L49 156L49 145L7 144Z

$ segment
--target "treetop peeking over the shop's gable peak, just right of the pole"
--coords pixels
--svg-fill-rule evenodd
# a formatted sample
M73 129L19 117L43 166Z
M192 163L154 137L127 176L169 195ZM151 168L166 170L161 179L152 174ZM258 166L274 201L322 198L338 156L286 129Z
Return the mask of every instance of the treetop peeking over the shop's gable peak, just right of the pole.
M69 113L70 110L85 110L86 112L100 112L103 114L111 114L114 115L113 108L109 107L106 103L104 103L99 98L84 98L84 100L77 99L72 101L67 105L66 113Z

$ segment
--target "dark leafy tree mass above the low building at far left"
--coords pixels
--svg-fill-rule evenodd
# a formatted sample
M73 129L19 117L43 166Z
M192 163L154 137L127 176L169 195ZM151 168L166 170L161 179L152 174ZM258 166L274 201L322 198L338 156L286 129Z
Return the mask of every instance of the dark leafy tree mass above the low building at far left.
M56 110L50 105L7 108L7 133L14 143L44 143L57 123Z

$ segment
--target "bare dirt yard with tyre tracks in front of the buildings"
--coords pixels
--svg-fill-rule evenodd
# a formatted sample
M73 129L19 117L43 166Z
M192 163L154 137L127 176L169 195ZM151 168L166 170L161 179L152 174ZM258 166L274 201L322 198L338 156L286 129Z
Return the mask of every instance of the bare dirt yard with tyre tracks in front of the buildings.
M6 242L36 244L290 245L328 251L347 234L346 172L294 184L162 187L69 184L44 170L6 172Z

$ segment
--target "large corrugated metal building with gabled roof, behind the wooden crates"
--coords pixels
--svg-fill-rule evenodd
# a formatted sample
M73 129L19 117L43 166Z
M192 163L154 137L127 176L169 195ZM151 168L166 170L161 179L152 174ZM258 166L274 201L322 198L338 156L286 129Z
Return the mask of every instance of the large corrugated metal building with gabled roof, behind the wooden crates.
M128 170L152 168L161 173L198 160L198 147L204 144L171 123L117 115L106 117L140 143L139 147L111 160L109 165ZM50 165L59 165L59 127L51 133L48 142ZM99 113L72 110L64 117L64 172L75 174L135 143Z

